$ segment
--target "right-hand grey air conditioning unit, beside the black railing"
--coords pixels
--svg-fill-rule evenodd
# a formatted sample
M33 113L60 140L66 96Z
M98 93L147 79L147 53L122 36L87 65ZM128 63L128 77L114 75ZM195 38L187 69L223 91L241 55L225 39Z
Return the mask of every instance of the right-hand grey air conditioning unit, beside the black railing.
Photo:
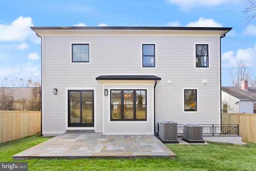
M182 140L188 143L204 143L203 126L198 124L183 125L184 138Z

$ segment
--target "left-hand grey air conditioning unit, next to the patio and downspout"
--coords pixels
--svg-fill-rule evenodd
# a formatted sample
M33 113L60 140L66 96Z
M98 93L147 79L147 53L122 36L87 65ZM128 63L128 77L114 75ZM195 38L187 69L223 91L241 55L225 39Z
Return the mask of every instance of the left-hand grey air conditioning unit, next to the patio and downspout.
M178 123L174 121L162 121L159 127L159 138L162 141L178 142Z

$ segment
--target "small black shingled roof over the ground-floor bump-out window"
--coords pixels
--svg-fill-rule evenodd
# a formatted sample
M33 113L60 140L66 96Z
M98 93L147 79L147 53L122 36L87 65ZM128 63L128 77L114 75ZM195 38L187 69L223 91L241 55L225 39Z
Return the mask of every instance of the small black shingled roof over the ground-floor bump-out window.
M160 77L157 76L98 76L96 80L161 80Z

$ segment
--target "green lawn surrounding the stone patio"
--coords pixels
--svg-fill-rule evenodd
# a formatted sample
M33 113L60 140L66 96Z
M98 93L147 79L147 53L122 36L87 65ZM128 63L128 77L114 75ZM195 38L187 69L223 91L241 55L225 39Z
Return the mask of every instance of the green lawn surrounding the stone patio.
M51 137L32 135L0 144L0 161L14 161L12 155L24 151ZM256 170L256 144L230 145L212 143L209 145L167 144L176 159L26 159L30 171L252 171ZM18 162L18 161L16 161Z

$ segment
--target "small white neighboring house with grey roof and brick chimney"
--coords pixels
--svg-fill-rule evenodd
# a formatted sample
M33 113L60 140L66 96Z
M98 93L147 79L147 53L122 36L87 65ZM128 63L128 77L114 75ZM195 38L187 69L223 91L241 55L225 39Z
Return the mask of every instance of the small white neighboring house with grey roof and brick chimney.
M224 113L256 113L256 87L221 87L222 111Z

